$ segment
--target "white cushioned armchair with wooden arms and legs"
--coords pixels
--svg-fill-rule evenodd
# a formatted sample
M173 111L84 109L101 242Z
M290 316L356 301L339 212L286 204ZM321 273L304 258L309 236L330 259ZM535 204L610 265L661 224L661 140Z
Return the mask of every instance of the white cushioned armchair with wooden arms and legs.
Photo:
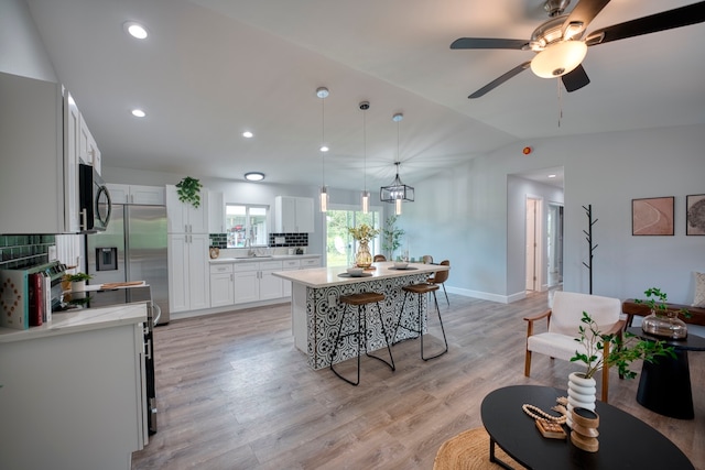
M527 357L524 375L531 373L531 354L538 352L570 361L575 351L585 352L583 345L575 341L579 337L578 327L583 311L597 323L603 334L618 334L625 328L620 320L621 302L618 298L558 291L553 296L550 310L534 317L527 317ZM534 334L534 323L545 318L547 331ZM605 354L609 354L609 343L605 345ZM601 401L607 403L609 368L603 369Z

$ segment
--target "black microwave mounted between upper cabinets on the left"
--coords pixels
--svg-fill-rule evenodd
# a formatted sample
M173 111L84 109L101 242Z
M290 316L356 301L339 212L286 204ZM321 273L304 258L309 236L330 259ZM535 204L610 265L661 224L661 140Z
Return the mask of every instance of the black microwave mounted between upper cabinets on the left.
M110 193L96 168L78 164L78 193L82 233L105 231L110 221Z

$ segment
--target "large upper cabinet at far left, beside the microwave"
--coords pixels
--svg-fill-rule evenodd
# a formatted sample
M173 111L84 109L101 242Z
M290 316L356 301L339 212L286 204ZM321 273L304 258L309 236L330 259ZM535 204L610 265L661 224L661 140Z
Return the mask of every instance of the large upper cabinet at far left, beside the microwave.
M78 231L78 166L64 166L62 86L0 73L0 233ZM65 188L69 181L75 187Z

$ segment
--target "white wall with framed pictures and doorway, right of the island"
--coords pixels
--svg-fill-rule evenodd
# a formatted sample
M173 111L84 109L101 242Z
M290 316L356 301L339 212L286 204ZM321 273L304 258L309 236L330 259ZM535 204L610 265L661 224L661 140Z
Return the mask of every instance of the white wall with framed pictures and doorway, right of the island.
M594 294L628 298L658 286L673 302L692 302L692 271L705 271L705 237L685 236L685 195L705 193L705 124L543 139L531 145L531 156L521 153L524 143L508 145L417 184L416 201L404 205L400 218L412 253L452 260L447 285L456 292L498 302L521 296L524 251L517 227L523 227L523 219L508 222L508 208L524 203L523 197L508 199L507 175L562 165L564 288L588 292L583 206L592 205L598 219ZM675 236L632 237L631 199L659 196L676 198Z

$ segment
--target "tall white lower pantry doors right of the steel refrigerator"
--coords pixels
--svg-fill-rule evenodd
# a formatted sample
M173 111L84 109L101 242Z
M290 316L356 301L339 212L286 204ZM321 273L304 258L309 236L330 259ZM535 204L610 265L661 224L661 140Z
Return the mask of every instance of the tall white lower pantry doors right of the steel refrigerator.
M171 233L167 237L170 311L210 307L208 236Z

